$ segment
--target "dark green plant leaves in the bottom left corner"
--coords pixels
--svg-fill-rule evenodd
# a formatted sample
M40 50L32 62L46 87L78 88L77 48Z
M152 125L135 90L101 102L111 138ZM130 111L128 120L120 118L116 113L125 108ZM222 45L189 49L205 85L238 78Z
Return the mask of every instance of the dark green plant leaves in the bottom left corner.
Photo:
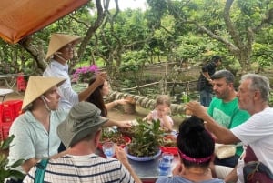
M8 148L14 138L15 136L10 136L0 142L0 182L5 182L5 178L22 179L25 177L22 172L13 169L21 166L24 159L16 161L13 165L8 165Z

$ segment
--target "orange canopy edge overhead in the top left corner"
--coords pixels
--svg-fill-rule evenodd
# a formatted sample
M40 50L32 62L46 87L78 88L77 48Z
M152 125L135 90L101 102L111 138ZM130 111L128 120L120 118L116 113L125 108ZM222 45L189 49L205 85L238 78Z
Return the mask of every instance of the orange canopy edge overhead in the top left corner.
M88 0L1 0L0 37L17 43L73 12Z

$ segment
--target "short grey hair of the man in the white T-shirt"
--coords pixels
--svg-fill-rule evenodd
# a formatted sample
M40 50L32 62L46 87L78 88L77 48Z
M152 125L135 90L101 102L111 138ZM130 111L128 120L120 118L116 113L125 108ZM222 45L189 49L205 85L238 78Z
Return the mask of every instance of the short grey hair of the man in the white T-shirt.
M248 79L251 80L249 89L258 90L261 94L261 98L264 101L268 101L269 92L270 92L270 84L269 84L268 77L260 76L257 74L246 74L241 77L240 83Z

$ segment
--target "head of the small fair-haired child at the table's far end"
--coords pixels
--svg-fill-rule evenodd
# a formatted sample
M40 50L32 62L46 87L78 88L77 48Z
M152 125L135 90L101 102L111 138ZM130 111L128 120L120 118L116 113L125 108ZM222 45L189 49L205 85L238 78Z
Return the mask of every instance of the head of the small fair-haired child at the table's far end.
M170 112L171 100L167 95L159 95L156 99L156 109L158 116L162 117Z

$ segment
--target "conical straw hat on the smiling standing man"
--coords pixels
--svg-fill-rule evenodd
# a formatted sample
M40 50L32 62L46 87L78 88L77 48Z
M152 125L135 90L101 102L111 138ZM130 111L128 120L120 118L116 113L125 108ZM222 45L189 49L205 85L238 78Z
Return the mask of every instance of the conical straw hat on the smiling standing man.
M78 44L80 40L81 40L80 36L70 36L57 33L52 34L49 41L49 46L45 59L47 60L50 56L54 55L56 51L66 46L67 44L69 43Z

